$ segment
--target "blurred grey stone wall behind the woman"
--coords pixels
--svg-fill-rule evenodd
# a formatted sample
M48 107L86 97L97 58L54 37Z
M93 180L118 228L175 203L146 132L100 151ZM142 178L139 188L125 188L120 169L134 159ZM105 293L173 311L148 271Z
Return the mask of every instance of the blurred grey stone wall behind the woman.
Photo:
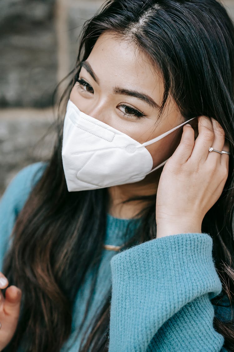
M52 94L74 67L78 36L103 0L1 0L0 196L16 172L44 160L54 136ZM234 0L222 1L234 18Z

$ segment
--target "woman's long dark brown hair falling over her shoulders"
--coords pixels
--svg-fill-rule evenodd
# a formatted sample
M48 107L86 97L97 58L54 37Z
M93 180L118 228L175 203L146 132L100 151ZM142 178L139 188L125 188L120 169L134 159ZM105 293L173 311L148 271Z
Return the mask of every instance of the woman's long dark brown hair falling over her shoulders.
M230 143L229 176L220 199L208 211L202 232L213 238L213 256L223 290L212 299L234 300L234 27L216 0L111 0L83 28L76 68L63 95L65 103L79 63L105 31L134 42L160 68L165 85L161 111L172 94L185 119L206 115L219 121ZM64 116L64 114L63 114ZM4 263L9 284L22 290L20 320L4 351L57 352L71 332L72 308L89 268L97 272L106 231L107 189L68 193L62 159L62 120L51 160L16 221L13 244ZM139 199L139 198L134 198ZM156 195L133 237L156 236ZM129 246L128 244L127 246ZM74 278L76 278L74 280ZM93 285L96 274L93 275ZM91 290L92 291L92 290ZM92 292L91 292L92 295ZM90 296L91 298L91 296ZM79 351L108 351L111 291L83 336ZM86 307L86 313L89 309ZM86 314L83 316L86 319ZM233 319L217 316L214 326L234 351ZM78 332L79 333L79 332Z

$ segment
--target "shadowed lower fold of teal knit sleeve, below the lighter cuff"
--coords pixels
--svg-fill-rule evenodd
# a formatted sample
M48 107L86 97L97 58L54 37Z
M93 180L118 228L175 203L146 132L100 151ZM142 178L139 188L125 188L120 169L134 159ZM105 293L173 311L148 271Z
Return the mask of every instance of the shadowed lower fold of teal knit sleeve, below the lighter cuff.
M161 326L147 352L219 352L224 338L214 330L213 320L214 308L208 294L197 297Z

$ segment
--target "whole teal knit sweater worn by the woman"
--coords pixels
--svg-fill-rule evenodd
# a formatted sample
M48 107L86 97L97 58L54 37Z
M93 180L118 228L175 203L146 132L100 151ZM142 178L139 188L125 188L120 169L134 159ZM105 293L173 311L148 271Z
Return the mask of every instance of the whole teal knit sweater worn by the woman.
M10 246L9 235L45 164L22 169L0 203L0 271ZM139 220L107 214L105 244L121 245L131 221L130 235ZM228 308L210 302L222 289L212 257L213 240L206 233L180 233L156 238L119 253L103 249L91 309L76 336L89 296L91 272L78 291L72 331L61 349L78 352L82 332L112 287L109 352L226 351L224 338L213 327L214 315L226 321Z

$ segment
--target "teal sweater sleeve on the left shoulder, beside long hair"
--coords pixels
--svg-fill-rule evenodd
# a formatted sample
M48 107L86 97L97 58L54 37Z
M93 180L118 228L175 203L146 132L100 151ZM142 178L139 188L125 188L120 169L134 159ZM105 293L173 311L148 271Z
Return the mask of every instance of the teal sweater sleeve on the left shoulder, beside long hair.
M0 201L0 271L5 253L10 246L10 234L15 220L25 202L45 170L45 163L38 162L26 166L13 178Z

